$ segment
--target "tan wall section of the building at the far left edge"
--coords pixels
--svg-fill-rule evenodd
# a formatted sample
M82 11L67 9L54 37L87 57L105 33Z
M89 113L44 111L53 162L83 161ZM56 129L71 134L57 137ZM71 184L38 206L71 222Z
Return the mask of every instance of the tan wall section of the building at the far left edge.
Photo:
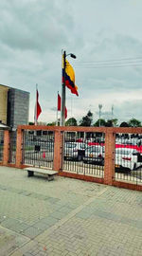
M0 120L7 124L7 102L9 87L0 84Z

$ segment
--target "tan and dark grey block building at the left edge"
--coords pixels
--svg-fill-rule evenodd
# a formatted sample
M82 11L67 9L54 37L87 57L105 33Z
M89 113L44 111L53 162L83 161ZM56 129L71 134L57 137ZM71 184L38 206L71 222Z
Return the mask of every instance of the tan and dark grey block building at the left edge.
M0 121L12 129L28 123L29 92L0 84Z

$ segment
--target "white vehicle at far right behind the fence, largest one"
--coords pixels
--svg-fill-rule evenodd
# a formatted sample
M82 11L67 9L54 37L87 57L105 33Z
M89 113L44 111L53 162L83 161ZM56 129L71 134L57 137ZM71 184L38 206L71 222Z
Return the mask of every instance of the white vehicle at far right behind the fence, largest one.
M115 149L115 167L127 168L130 171L142 165L140 153L131 148L116 148Z

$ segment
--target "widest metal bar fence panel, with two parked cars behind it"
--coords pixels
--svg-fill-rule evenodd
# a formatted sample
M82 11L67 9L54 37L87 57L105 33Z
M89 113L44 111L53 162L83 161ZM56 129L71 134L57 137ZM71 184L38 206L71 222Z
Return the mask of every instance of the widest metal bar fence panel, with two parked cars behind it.
M103 177L104 139L103 133L64 132L62 170Z

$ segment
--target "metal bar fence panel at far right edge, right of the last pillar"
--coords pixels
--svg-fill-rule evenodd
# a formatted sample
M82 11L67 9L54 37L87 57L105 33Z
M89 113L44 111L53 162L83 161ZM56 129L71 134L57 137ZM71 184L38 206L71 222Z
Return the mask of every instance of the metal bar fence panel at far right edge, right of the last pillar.
M115 180L142 184L142 135L116 134Z

